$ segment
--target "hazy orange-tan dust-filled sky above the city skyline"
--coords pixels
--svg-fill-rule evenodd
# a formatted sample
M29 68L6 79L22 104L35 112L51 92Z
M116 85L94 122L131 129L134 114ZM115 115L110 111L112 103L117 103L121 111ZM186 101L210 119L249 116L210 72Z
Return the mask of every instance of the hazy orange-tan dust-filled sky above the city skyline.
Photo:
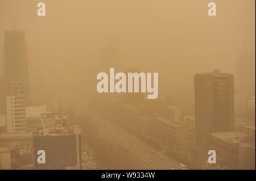
M159 95L191 92L195 73L235 73L245 42L255 50L255 0L212 1L216 17L207 15L206 0L0 0L0 41L15 15L16 28L26 30L30 89L38 100L96 91L90 67L100 64L110 33L121 36L123 66L159 72ZM46 17L37 16L38 2L46 3Z

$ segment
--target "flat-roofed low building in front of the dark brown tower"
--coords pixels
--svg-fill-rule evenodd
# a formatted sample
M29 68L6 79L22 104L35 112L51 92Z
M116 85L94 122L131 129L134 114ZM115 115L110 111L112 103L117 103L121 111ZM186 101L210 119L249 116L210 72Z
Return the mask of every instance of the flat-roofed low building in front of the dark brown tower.
M255 169L255 144L239 132L216 132L208 136L209 150L216 151L217 163L229 169Z

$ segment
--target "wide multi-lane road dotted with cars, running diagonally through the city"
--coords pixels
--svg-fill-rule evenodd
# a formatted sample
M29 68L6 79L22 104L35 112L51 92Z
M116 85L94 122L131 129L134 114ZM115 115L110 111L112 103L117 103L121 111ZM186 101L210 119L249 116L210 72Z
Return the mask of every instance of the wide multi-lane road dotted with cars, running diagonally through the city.
M93 121L96 121L102 136L109 137L116 144L129 151L130 154L134 155L135 159L141 161L144 169L179 169L179 163L166 157L163 151L158 151L147 145L131 133L102 117L97 111L90 111L88 115Z

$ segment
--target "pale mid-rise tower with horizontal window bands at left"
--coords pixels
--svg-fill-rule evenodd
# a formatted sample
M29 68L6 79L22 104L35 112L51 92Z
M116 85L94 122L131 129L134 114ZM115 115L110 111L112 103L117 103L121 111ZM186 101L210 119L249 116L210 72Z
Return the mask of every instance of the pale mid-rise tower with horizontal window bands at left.
M27 132L26 94L23 83L6 84L6 119L8 133Z

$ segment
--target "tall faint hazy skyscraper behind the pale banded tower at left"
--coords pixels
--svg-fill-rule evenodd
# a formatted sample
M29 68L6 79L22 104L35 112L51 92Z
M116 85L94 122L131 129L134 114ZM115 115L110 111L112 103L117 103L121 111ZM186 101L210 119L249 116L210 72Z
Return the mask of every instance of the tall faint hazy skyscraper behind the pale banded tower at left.
M6 83L24 83L28 99L28 68L24 30L4 31Z

